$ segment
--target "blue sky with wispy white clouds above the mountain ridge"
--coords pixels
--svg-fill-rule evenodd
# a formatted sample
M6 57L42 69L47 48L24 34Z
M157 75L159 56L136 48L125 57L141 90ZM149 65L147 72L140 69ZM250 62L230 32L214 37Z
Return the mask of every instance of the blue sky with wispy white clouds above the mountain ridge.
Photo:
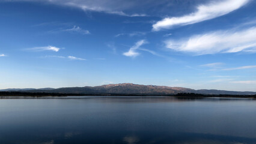
M254 0L0 0L0 89L256 91Z

